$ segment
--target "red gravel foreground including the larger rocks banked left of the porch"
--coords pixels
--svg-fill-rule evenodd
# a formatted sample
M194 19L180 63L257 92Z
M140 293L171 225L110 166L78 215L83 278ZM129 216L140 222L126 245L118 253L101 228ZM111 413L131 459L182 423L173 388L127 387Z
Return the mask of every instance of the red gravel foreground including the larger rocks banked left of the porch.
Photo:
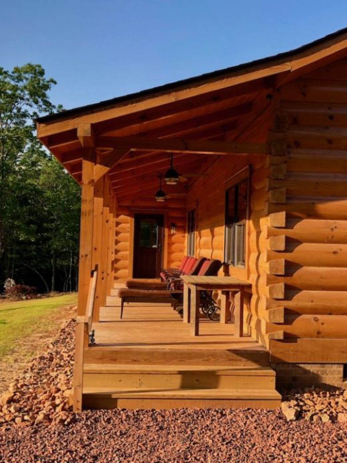
M73 333L71 320L2 396L1 463L347 463L346 422L288 422L280 409L75 415ZM299 406L305 394L293 397Z

